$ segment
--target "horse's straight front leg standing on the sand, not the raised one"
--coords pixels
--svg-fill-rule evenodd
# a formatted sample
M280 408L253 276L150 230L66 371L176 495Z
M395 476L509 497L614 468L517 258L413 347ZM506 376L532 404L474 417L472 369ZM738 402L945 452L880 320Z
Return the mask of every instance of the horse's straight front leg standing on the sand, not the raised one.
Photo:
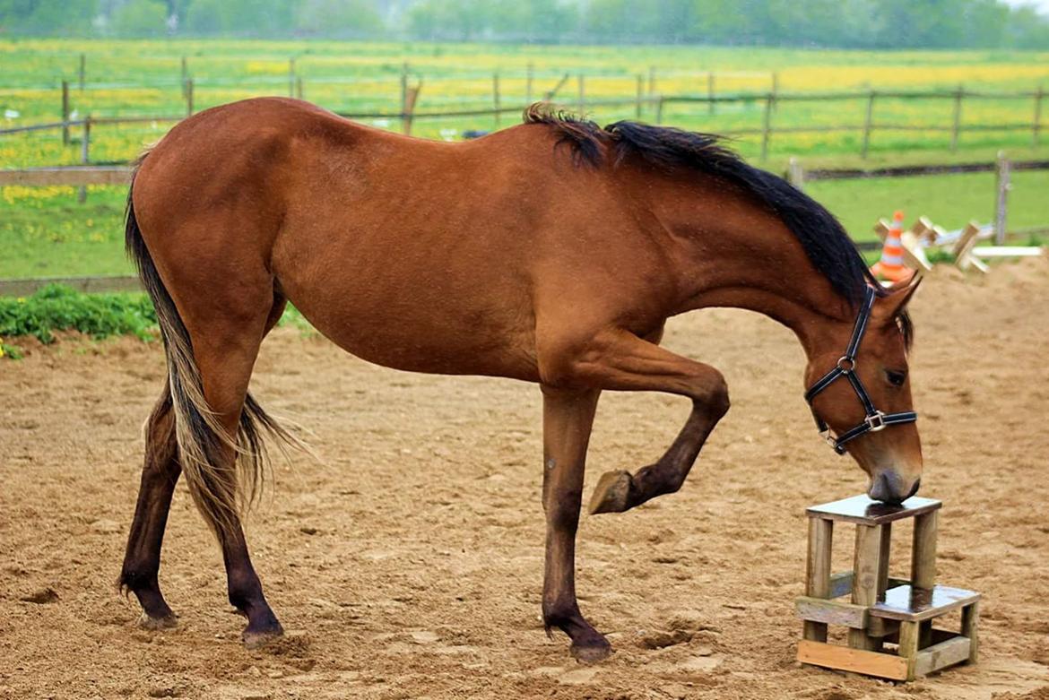
M542 388L542 507L547 513L547 563L542 619L572 638L572 655L592 662L612 653L600 632L579 612L576 600L576 528L582 502L583 469L597 390Z

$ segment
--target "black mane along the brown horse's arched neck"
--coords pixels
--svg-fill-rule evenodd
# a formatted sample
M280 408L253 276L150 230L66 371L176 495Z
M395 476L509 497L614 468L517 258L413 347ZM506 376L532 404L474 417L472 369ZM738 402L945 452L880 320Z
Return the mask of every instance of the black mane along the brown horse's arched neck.
M611 157L618 165L637 155L662 170L688 168L731 180L765 202L787 224L810 262L851 304L860 304L868 286L874 286L879 296L886 293L833 214L782 177L747 165L722 146L720 136L637 122L616 122L602 129L594 122L552 110L541 103L524 111L524 123L544 124L559 131L559 145L572 149L577 163L600 166ZM899 322L909 344L909 319L901 314Z

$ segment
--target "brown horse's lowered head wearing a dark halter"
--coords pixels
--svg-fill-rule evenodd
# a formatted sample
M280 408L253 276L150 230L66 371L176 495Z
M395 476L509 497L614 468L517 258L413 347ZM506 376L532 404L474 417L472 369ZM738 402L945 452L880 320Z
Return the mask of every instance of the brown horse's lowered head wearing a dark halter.
M886 296L869 294L852 332L837 333L835 347L814 353L806 370L806 398L820 430L866 472L870 497L887 503L914 496L921 482L903 315L917 286L912 280Z

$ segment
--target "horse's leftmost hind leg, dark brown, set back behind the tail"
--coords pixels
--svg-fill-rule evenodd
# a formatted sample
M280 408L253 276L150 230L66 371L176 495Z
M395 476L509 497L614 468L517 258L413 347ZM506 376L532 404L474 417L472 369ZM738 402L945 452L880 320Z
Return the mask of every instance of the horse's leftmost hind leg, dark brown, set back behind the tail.
M175 626L175 615L160 593L157 573L171 496L181 474L175 444L171 392L167 381L160 400L146 421L145 438L146 460L142 469L138 503L117 583L138 598L143 609L140 624L143 627L165 629Z

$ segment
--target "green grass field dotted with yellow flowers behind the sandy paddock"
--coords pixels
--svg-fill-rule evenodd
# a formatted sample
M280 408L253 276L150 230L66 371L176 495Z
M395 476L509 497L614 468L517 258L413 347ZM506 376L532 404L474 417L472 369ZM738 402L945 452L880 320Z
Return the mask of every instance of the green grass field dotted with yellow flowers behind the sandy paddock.
M77 86L80 54L86 57L86 87ZM410 81L422 81L418 109L487 108L492 105L492 74L500 74L504 106L523 105L526 74L532 66L532 97L572 75L558 93L570 107L578 104L577 74L584 74L585 97L633 97L637 75L654 93L703 95L706 71L713 71L718 94L761 94L772 75L784 92L878 89L951 90L959 84L987 93L1033 91L1049 87L1049 53L1005 51L828 51L731 49L702 47L494 46L481 44L345 43L273 41L0 41L0 127L56 121L60 116L61 81L73 88L79 116L178 115L185 112L180 85L181 58L187 57L195 82L197 109L257 94L287 94L288 60L303 80L304 96L339 111L395 112L400 108L402 65ZM860 125L865 100L829 103L780 103L774 126L798 128ZM875 122L947 126L954 114L949 100L878 100ZM598 107L591 115L601 123L633 117L634 107ZM643 118L652 119L646 108ZM689 129L726 132L762 124L763 103L668 105L663 123ZM1034 100L970 99L962 108L962 126L1029 124ZM414 133L455 138L465 129L492 129L515 123L505 115L416 121ZM1049 130L1049 100L1044 128ZM399 129L395 119L373 124ZM97 126L94 161L125 161L160 138L171 124ZM0 135L0 168L77 162L79 134L63 146L58 131ZM857 167L913 162L988 161L999 149L1016 159L1049 158L1045 145L1033 146L1029 130L962 132L959 149L947 150L949 134L926 131L876 131L871 156L861 161L859 132L814 131L775 134L770 157L758 163L783 172L789 156L806 167ZM750 158L759 138L740 137L733 147ZM873 237L878 217L902 209L908 218L927 215L948 228L969 219L987 221L993 211L993 176L948 175L896 180L815 182L808 192L831 209L857 239ZM1049 224L1049 173L1018 173L1010 195L1010 226ZM0 191L0 278L121 274L130 270L121 250L123 188L92 188L86 204L78 204L69 188L5 188Z

